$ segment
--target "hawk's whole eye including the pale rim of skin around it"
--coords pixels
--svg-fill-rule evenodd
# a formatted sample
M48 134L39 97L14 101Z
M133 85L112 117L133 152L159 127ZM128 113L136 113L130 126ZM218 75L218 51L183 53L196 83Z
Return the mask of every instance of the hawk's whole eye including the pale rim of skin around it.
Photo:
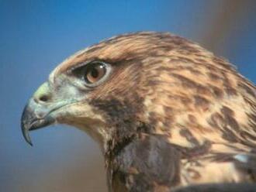
M96 87L101 84L110 74L111 67L102 61L93 61L86 64L83 73L85 86Z

